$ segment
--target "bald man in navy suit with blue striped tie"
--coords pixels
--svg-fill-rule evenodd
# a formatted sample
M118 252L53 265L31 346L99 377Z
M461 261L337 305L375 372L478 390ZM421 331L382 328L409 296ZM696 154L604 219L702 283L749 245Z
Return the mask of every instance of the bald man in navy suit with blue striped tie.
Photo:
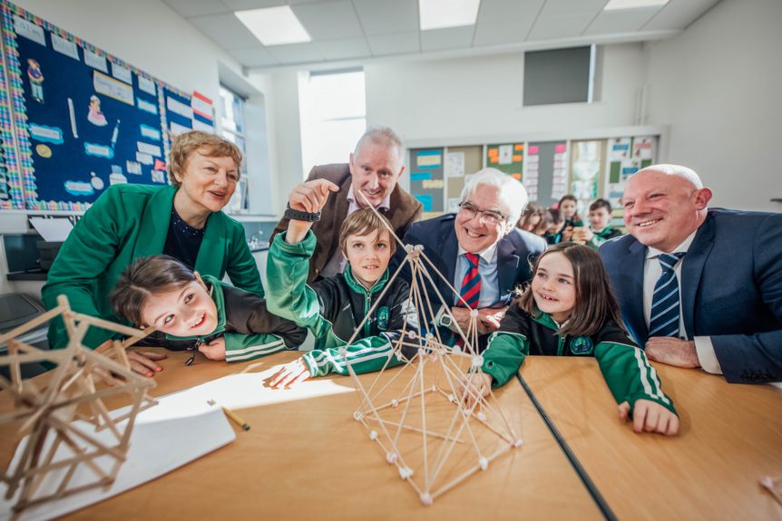
M622 318L650 360L782 381L782 214L709 209L711 197L686 167L630 178L630 235L600 249Z

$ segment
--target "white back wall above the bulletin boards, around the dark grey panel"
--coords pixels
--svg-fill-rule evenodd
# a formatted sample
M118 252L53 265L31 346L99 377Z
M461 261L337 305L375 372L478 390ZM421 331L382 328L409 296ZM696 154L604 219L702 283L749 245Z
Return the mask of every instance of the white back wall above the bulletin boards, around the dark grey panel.
M600 101L538 107L522 106L523 53L370 64L367 123L405 140L630 126L643 60L640 43L602 47Z

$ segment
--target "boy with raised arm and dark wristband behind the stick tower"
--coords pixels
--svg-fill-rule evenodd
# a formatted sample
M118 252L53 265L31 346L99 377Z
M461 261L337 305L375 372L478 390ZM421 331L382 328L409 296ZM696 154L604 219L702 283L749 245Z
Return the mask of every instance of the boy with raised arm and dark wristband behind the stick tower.
M291 192L288 206L315 214L326 204L328 192L337 189L326 179L308 181ZM316 349L283 367L272 377L272 387L289 387L329 372L348 374L339 352L386 289L388 261L396 249L384 226L386 218L377 216L371 208L358 209L345 219L339 233L339 249L347 258L345 272L308 285L309 259L316 246L316 237L309 229L312 222L298 220L304 216L296 212L288 217L288 231L275 236L269 248L269 309L307 327L315 336ZM378 371L389 357L389 366L403 362L393 355L392 343L406 321L411 324L409 328L416 329L415 306L410 304L409 294L409 286L401 277L387 287L358 340L346 348L354 371ZM403 354L408 356L406 350ZM413 354L409 352L409 356Z

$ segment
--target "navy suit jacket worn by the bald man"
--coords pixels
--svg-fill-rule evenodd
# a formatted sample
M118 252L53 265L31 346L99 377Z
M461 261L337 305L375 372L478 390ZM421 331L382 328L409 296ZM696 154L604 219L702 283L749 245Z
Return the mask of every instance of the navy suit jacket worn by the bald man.
M625 325L643 346L647 247L633 236L601 246ZM709 336L730 382L782 381L782 214L709 209L681 265L687 338Z

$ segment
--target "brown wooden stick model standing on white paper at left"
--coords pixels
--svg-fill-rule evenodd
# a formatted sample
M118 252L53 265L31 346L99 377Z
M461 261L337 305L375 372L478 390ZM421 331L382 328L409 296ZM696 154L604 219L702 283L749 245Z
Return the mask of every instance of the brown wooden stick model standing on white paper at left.
M62 317L69 338L65 349L44 351L15 340L58 316ZM91 326L129 338L93 351L82 343ZM0 335L0 344L8 345L8 356L0 358L0 365L7 365L11 376L8 380L0 375L0 388L10 392L15 400L15 410L0 415L0 425L21 423L18 435L24 436L20 441L24 444L21 457L0 472L0 483L6 486L5 498L12 499L19 493L15 515L46 501L112 485L130 447L136 415L156 403L148 394L155 382L131 371L125 353L127 346L149 333L152 330L142 332L74 313L68 299L60 295L57 307ZM47 375L47 383L39 387L34 381L22 380L21 364L28 362L52 362L57 368ZM101 381L105 385L96 386ZM110 415L103 400L122 394L128 395L131 406L122 415ZM74 423L75 420L82 421ZM92 432L84 429L85 422ZM103 429L112 433L112 442L95 436ZM94 480L72 486L74 473L82 468L89 469Z

